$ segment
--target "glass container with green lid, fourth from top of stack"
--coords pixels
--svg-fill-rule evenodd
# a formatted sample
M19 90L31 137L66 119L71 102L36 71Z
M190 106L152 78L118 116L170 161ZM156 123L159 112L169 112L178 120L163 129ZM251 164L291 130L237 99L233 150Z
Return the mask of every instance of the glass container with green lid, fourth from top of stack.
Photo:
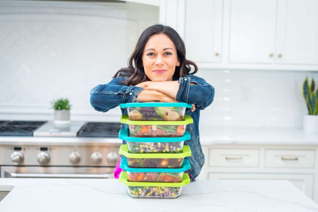
M182 153L129 153L127 144L122 144L119 154L127 157L129 168L181 168L183 159L191 156L191 150L183 145Z

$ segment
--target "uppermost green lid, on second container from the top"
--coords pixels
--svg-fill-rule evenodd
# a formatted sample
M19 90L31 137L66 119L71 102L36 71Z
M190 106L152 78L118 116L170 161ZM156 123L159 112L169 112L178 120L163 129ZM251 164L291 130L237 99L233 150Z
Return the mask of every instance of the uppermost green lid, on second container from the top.
M132 121L129 120L127 114L123 114L120 121L123 124L131 125L187 125L193 123L193 119L189 115L184 115L183 121Z

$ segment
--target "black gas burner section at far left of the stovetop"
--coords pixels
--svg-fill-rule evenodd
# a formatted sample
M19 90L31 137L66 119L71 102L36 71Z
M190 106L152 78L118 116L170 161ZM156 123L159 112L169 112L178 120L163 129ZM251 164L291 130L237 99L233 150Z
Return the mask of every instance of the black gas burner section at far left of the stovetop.
M46 121L0 121L0 135L33 136Z

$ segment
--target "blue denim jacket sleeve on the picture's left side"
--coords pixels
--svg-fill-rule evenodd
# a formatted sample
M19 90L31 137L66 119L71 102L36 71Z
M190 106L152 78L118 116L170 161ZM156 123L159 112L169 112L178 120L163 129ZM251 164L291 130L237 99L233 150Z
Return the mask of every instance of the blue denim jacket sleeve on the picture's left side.
M97 85L91 89L90 102L95 110L107 112L121 103L135 101L143 88L133 85L122 85L121 78L117 77L107 84Z

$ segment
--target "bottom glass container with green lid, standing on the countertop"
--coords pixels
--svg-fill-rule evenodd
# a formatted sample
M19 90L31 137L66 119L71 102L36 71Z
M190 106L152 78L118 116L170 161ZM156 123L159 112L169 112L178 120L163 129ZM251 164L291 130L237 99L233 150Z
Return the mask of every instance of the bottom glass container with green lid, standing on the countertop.
M182 187L190 183L188 173L183 173L181 182L129 182L127 172L121 172L119 181L127 186L127 193L134 198L176 198Z

